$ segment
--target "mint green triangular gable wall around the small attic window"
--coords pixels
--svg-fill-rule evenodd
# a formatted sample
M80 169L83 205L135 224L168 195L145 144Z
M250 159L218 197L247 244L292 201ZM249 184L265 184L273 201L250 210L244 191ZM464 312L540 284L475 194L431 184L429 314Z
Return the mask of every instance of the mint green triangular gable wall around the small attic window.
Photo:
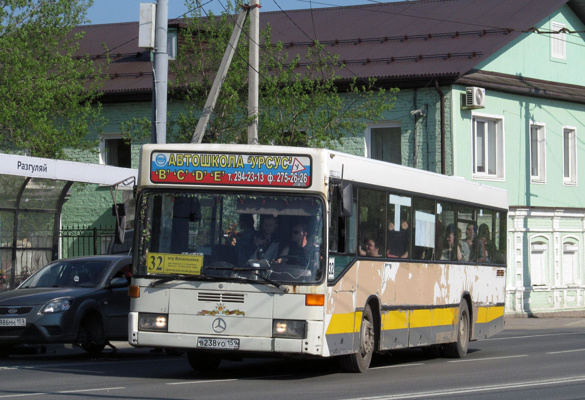
M536 24L536 27L550 30L551 21L564 23L565 28L569 30L585 30L583 22L567 5L541 20ZM566 33L566 59L560 60L550 56L550 35L522 33L509 45L479 63L476 69L585 85L585 76L583 76L584 39L584 33Z

